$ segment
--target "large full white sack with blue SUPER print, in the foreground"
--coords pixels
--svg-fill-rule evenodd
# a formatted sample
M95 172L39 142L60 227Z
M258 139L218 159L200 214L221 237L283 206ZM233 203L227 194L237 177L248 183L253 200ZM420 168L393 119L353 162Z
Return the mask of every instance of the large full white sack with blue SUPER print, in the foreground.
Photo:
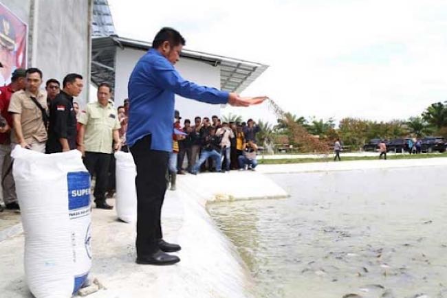
M25 279L37 298L71 297L91 268L90 176L78 150L16 146L12 173L25 231Z

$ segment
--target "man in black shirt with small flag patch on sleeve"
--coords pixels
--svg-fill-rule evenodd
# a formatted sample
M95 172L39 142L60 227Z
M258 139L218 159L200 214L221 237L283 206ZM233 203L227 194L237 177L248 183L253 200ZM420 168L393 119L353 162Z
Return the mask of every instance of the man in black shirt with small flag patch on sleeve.
M69 73L63 80L63 90L56 95L50 106L47 153L76 149L76 113L73 97L83 91L83 77Z

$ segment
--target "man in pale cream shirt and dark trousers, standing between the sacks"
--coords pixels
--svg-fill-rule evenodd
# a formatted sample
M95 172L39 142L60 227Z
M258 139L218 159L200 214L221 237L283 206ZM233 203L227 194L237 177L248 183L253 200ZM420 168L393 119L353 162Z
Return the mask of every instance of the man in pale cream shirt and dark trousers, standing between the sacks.
M107 174L113 150L120 150L120 122L116 108L109 103L111 87L102 83L98 87L98 102L87 104L80 113L78 150L84 152L84 164L91 176L96 174L94 190L97 208L112 209L105 198Z

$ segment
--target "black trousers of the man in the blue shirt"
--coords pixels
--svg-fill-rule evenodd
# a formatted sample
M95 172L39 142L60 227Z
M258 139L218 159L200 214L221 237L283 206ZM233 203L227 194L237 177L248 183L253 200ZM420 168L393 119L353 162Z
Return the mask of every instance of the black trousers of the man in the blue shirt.
M166 171L169 152L151 150L151 135L138 140L131 148L137 176L137 239L138 257L155 253L157 240L163 238L161 213L166 192Z

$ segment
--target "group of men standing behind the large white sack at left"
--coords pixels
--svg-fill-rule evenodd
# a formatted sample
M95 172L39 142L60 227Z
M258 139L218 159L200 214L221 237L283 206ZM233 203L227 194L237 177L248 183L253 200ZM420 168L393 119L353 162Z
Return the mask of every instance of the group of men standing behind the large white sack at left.
M22 148L42 153L78 149L85 167L96 176L96 207L112 209L106 203L113 189L113 152L124 143L129 102L117 108L111 101L111 86L98 86L96 102L80 111L74 102L83 90L83 77L69 73L61 83L47 80L41 89L40 69L16 69L11 83L0 87L0 171L3 203L7 209L20 209L12 176L11 150ZM0 209L3 208L0 205Z

